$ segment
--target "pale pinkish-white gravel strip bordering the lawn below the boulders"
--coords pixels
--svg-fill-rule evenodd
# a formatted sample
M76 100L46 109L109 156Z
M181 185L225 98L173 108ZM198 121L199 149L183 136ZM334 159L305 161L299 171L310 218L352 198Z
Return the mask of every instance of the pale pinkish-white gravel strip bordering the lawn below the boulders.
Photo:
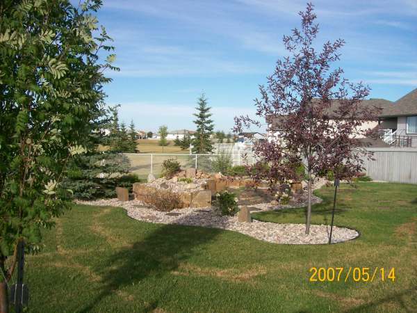
M128 216L136 220L149 223L192 225L232 230L271 243L322 244L329 241L329 225L311 225L310 234L306 235L304 233L304 224L277 224L259 220L252 220L252 223L241 223L238 222L237 216L220 216L214 207L174 209L170 212L161 212L147 207L145 203L138 200L129 202L120 202L117 199L76 200L76 203L123 207L126 209ZM256 207L256 209L261 211L277 209L277 206L266 203L255 204L249 207L251 209ZM252 209L252 211L254 210ZM356 230L350 230L345 227L333 227L332 243L351 240L357 236L359 236L359 233Z

